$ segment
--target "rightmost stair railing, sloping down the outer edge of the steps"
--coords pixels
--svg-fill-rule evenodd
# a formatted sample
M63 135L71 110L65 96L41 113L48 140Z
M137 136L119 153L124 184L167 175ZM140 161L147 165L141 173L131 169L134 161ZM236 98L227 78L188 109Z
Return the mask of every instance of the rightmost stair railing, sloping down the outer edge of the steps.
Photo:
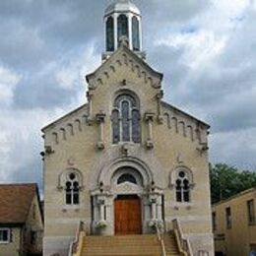
M178 243L178 247L179 247L181 253L183 253L186 256L193 256L190 242L187 238L183 237L181 226L180 226L178 220L177 219L173 220L172 224L173 224L174 234L176 236L176 240Z

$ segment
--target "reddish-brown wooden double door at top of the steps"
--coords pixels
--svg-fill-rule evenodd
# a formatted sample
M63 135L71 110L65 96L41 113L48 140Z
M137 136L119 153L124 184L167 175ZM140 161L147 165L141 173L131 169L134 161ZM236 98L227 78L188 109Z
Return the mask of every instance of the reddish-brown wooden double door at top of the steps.
M118 196L114 201L115 234L142 233L142 206L138 196Z

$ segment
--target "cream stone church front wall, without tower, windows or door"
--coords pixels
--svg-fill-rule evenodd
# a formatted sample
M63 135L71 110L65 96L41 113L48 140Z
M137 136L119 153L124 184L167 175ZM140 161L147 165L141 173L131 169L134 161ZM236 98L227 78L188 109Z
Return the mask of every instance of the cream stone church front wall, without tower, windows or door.
M171 221L179 219L193 251L213 255L209 125L162 101L162 75L126 43L123 40L87 76L88 103L42 130L44 255L67 255L80 221L85 222L88 233L113 235L114 201L120 195L140 198L143 233L152 232L152 221L169 230ZM113 109L118 96L137 101L140 143L113 143ZM180 172L189 182L187 200L177 200ZM79 204L67 204L65 184L71 182L72 173L79 183ZM122 174L133 176L134 182L118 183ZM104 228L99 229L100 224Z

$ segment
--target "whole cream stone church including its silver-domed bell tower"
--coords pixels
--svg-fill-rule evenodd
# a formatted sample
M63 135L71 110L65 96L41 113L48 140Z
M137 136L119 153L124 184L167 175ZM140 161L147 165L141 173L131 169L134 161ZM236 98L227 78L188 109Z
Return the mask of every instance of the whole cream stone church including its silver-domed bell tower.
M210 126L162 100L134 3L112 1L103 21L87 103L42 129L43 255L68 255L83 223L98 240L173 232L186 255L212 256Z

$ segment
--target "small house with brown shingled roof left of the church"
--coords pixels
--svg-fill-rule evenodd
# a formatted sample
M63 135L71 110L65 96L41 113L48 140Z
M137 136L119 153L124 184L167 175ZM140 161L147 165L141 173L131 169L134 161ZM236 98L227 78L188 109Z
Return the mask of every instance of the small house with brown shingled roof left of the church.
M0 185L0 255L41 255L42 232L36 184Z

